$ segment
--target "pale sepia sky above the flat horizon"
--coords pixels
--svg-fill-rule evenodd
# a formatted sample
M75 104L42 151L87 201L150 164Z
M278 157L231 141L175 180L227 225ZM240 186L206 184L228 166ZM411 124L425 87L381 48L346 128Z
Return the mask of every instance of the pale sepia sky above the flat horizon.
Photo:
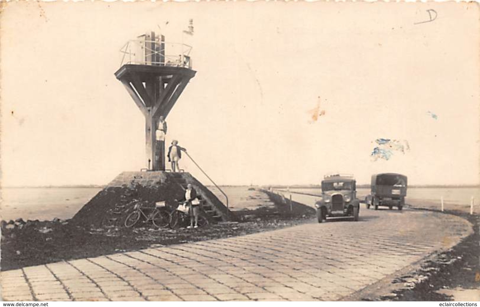
M437 18L420 23L426 10ZM480 183L477 4L96 1L4 3L1 184L107 184L145 167L119 50L151 30L180 42L190 18L197 72L167 141L216 183L318 184L332 172ZM404 152L375 159L379 138ZM188 158L180 166L208 184Z

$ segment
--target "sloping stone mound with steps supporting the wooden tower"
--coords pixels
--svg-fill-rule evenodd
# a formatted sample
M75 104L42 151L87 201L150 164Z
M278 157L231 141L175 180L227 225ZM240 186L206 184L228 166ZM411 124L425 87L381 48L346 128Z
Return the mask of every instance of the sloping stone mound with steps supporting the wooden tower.
M233 214L227 207L190 173L149 171L123 172L115 177L73 216L72 223L94 227L121 226L133 210L133 205L129 204L131 201L146 201L152 205L156 201L166 201L173 208L176 199L184 198L189 183L204 200L203 210L211 221L232 219Z

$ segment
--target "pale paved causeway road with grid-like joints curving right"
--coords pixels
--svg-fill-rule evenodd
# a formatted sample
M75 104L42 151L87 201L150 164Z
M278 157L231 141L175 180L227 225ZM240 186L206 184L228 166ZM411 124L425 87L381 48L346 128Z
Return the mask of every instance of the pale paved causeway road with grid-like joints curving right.
M1 273L4 300L337 300L469 234L455 216L348 219Z

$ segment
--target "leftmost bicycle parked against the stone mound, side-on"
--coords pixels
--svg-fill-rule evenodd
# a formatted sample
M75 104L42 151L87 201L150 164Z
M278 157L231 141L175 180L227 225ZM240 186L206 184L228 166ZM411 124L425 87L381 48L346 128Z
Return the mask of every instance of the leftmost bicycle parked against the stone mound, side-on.
M133 212L125 219L125 227L132 227L137 224L141 216L143 216L147 222L152 221L152 223L158 228L166 228L169 226L170 213L166 210L165 201L157 202L155 207L145 207L144 205L148 204L148 202L135 200L131 201L127 206L132 204L134 204ZM149 211L150 213L148 213Z

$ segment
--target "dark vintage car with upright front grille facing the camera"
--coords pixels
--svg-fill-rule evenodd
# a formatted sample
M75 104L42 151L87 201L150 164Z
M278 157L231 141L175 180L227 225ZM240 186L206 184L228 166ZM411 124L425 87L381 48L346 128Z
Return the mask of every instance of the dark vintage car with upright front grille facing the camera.
M328 217L351 216L359 220L360 201L357 199L353 175L326 175L322 180L322 200L315 203L318 223Z

